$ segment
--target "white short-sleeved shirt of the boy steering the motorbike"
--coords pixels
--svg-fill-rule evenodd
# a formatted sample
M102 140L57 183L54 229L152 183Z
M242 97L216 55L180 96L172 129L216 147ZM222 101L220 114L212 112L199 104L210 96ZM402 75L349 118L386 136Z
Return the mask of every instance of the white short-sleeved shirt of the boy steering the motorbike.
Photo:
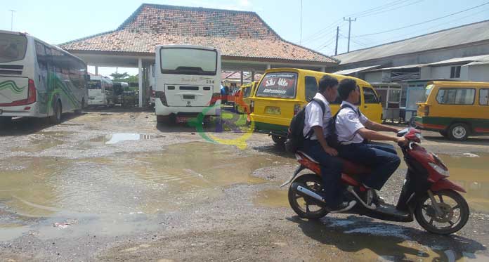
M350 105L355 108L352 110L350 107L346 107L339 112L336 119L336 133L338 135L338 141L343 142L343 145L363 143L363 137L357 133L358 129L365 128L365 123L368 119L364 114L360 112L358 115L358 107L352 103L343 101L341 106ZM356 112L357 111L357 112Z

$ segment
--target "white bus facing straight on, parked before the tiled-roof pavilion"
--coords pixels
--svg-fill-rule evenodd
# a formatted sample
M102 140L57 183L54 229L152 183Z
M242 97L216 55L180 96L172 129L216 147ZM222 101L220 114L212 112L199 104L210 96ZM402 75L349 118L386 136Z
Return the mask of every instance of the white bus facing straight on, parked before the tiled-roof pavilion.
M204 114L221 115L221 52L190 45L156 47L157 122L185 122Z

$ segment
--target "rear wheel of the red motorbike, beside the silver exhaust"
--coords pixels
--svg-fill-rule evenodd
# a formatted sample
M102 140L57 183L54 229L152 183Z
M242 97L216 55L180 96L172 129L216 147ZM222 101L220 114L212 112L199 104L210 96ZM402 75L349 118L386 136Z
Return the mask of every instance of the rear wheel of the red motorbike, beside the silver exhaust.
M297 192L297 186L301 185L314 192L321 190L321 178L314 173L307 173L297 178L289 188L289 204L301 218L318 219L326 216L329 211L317 200Z

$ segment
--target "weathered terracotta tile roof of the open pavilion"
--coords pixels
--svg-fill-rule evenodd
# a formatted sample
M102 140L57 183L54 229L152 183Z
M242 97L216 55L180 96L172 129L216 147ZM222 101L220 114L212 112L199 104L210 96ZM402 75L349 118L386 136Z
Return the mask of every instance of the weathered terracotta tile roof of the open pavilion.
M117 30L61 44L67 51L154 53L159 44L212 46L242 58L337 63L282 39L254 12L142 4Z

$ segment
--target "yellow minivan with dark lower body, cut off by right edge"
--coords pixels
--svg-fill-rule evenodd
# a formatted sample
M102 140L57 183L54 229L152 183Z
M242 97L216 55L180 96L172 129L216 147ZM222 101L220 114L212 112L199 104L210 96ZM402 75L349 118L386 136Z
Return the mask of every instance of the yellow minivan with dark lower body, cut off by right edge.
M416 125L452 140L489 133L489 83L431 81L418 103Z

